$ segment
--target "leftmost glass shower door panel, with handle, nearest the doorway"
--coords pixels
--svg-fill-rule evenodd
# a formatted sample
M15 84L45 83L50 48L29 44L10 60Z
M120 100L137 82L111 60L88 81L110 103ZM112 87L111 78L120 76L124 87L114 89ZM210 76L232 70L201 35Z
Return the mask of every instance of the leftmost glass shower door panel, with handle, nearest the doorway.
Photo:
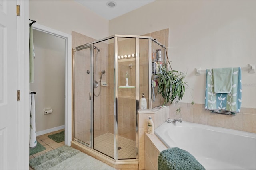
M74 139L92 146L91 45L74 51Z

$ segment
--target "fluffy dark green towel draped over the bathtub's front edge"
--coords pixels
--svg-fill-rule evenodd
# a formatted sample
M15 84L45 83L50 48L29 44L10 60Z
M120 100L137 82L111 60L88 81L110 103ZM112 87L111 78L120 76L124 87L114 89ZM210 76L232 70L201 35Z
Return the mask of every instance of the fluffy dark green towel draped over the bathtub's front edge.
M205 170L192 154L178 147L160 152L158 170Z

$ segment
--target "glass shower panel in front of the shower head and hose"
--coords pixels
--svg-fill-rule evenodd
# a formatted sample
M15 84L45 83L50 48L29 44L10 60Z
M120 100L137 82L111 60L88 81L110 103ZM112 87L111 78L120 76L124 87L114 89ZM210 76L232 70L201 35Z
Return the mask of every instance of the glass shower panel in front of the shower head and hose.
M93 149L114 158L113 38L94 44Z

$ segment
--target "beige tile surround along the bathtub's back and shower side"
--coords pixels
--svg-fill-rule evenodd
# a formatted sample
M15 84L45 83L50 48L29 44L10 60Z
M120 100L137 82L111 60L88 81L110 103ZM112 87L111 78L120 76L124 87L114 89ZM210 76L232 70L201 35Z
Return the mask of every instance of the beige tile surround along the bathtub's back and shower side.
M157 159L154 158L154 155L158 155L165 148L164 144L160 145L162 142L156 135L146 132L148 116L152 117L156 129L168 117L171 119L179 118L179 115L176 114L178 107L181 109L181 118L183 121L256 133L256 109L254 108L242 107L240 113L236 115L220 115L206 111L204 104L192 105L190 103L180 102L167 107L168 113L165 113L164 110L156 113L139 111L139 169L157 169ZM141 153L143 144L144 154ZM158 145L161 147L158 147ZM144 158L143 163L142 158Z

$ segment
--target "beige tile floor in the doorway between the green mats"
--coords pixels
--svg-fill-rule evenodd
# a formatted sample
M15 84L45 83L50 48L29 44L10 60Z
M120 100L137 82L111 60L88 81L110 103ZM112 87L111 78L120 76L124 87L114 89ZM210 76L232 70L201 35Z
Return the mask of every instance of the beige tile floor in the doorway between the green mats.
M29 159L35 158L36 156L38 156L38 155L40 155L40 154L43 154L43 153L45 153L45 152L48 152L48 151L50 151L50 150L54 150L54 149L56 149L56 148L58 148L58 147L61 147L61 146L65 145L65 142L64 142L64 141L58 143L58 142L55 142L54 140L48 138L48 135L52 135L52 134L54 134L54 133L59 133L59 132L61 132L61 131L63 131L63 130L64 130L64 129L61 129L61 130L58 130L58 131L54 131L54 132L51 132L51 133L47 133L47 134L44 134L44 135L37 136L37 137L36 137L37 142L39 142L40 144L42 144L42 145L46 148L46 150L43 150L43 151L38 152L38 153L36 153L36 154L30 155L30 156L29 156ZM29 167L29 169L30 169L30 170L33 170L33 168L31 168L31 167Z

